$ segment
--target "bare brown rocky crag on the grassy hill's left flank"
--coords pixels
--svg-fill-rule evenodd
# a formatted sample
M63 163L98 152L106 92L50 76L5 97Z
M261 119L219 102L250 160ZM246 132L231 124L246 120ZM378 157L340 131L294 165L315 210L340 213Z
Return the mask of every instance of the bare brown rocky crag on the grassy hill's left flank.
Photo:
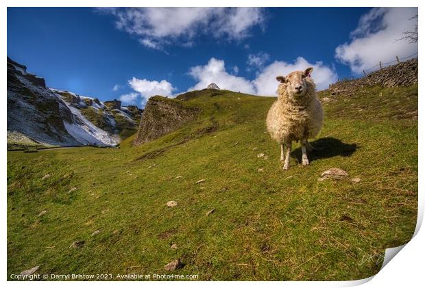
M184 105L182 101L154 96L147 101L133 144L141 145L182 127L193 120L199 109Z

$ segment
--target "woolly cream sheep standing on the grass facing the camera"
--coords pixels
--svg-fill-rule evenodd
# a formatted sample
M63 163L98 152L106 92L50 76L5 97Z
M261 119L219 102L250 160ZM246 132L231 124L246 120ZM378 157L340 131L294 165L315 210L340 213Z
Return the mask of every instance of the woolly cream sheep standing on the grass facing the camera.
M324 120L324 112L311 79L313 67L304 72L295 71L287 77L278 76L278 99L271 105L267 114L267 131L271 138L280 144L280 161L283 169L289 169L291 144L300 140L302 165L309 164L306 150L313 150L308 139L315 138ZM286 148L286 153L284 151Z

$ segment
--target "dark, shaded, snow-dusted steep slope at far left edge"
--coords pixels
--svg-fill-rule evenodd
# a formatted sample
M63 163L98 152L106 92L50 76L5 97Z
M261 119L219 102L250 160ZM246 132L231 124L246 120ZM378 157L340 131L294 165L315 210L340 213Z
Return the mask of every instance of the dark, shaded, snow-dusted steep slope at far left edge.
M8 57L8 131L45 144L80 144L64 125L72 114L63 101L45 88L43 81L32 81L26 67Z

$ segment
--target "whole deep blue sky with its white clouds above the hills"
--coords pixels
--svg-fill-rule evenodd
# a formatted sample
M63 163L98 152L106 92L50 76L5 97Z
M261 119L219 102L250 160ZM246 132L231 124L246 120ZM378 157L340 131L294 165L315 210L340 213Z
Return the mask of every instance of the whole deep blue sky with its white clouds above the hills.
M314 66L318 88L417 44L417 8L8 8L8 56L52 88L143 106L205 88L273 95Z

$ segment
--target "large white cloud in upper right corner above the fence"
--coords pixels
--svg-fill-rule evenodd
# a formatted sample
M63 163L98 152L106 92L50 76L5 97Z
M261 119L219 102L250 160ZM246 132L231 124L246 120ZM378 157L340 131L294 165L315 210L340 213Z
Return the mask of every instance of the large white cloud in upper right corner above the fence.
M380 61L396 60L396 55L417 53L417 43L396 41L404 31L415 29L416 21L410 19L416 14L417 8L373 8L360 18L358 27L351 33L352 40L335 49L335 57L360 74Z

